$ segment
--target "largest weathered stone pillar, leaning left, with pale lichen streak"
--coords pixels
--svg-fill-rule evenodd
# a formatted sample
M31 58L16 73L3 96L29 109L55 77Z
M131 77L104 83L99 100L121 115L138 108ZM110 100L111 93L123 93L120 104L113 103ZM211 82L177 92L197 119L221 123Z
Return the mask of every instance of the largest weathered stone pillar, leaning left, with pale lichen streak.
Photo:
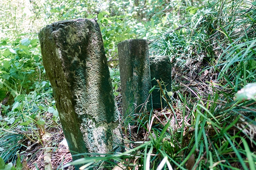
M42 28L39 39L71 154L120 149L119 114L96 20L55 22Z

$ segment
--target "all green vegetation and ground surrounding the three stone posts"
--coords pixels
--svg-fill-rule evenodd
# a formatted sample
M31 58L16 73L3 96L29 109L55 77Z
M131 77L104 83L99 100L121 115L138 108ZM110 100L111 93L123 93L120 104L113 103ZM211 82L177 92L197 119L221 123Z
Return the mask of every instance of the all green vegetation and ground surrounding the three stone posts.
M170 56L172 91L159 80L154 90L171 99L169 107L121 120L124 153L85 153L67 165L256 169L256 1L12 0L0 11L0 169L44 169L47 149L54 169L71 160L59 147L63 133L37 32L73 18L98 19L119 110L117 43L125 39L146 38L150 55Z

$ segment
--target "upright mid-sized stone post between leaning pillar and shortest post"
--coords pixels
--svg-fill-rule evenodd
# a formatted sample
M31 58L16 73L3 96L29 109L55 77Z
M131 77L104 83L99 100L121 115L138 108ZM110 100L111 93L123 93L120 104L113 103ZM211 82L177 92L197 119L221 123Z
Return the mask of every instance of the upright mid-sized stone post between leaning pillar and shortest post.
M145 39L127 39L118 44L123 115L138 113L147 102L152 107L149 47ZM143 110L142 110L143 111Z

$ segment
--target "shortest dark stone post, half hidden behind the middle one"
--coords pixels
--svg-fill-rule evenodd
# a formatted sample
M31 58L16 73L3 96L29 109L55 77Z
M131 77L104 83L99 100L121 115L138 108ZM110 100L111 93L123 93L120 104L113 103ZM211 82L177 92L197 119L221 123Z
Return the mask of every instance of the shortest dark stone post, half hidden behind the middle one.
M164 82L165 86L162 85L162 89L166 88L167 91L171 91L171 62L169 56L153 56L150 57L150 74L151 80L156 79L161 82ZM151 81L152 87L154 85L159 86L156 80ZM168 95L165 94L167 99L169 99ZM161 93L160 90L152 91L152 102L153 108L161 108ZM162 107L167 106L167 103L162 98Z

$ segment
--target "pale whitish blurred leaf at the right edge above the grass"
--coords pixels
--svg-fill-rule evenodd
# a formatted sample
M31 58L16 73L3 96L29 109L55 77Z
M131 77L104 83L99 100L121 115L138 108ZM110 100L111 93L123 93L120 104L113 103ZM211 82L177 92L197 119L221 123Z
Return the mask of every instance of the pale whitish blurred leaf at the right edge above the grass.
M234 100L250 100L256 101L256 83L249 83L241 90L237 91Z

